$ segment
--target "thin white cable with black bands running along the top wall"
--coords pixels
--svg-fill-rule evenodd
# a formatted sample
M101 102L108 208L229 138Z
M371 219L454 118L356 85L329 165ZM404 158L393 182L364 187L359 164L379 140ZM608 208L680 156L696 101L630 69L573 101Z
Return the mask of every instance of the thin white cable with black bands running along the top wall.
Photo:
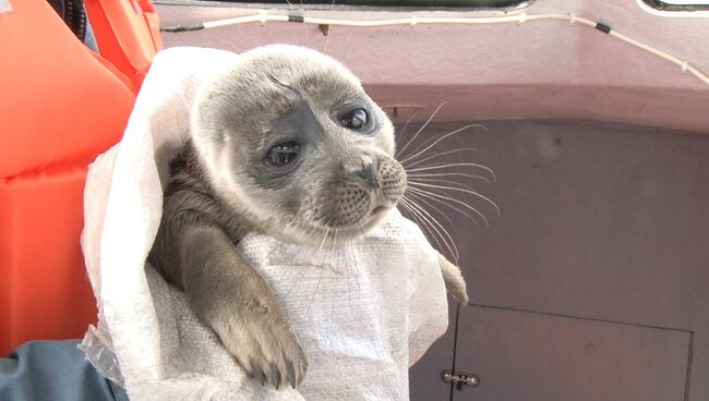
M560 20L568 21L569 25L576 25L576 23L587 25L596 28L597 22L578 16L575 13L545 13L545 14L526 14L521 13L518 15L507 15L507 16L474 16L474 17L448 17L448 16L410 16L405 19L387 19L387 20L344 20L344 19L321 19L321 17L311 17L303 16L302 23L313 24L313 25L332 25L332 26L353 26L353 27L371 27L371 26L393 26L393 25L441 25L441 24L456 24L456 25L484 25L484 24L524 24L528 21L543 21L543 20ZM205 22L203 24L205 29L214 28L218 26L228 26L228 25L238 25L238 24L248 24L253 22L259 22L262 25L265 25L266 22L288 22L290 21L288 15L279 14L268 14L266 11L260 11L257 14L238 16L233 19L218 20L212 22ZM622 40L630 46L642 49L651 54L654 54L659 58L668 60L677 66L680 66L683 73L689 72L696 76L699 81L709 85L709 76L704 72L697 70L690 65L686 60L682 60L678 57L664 52L660 49L657 49L648 44L641 42L639 40L633 39L629 36L617 33L615 29L611 29L608 33L609 36L612 36L618 40Z

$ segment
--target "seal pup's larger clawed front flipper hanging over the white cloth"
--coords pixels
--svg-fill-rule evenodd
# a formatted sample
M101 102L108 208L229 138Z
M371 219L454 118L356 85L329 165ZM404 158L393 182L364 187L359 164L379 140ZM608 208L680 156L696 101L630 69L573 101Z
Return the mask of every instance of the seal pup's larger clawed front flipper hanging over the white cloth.
M182 283L197 317L254 379L296 388L308 361L266 281L215 227L190 227L182 240Z

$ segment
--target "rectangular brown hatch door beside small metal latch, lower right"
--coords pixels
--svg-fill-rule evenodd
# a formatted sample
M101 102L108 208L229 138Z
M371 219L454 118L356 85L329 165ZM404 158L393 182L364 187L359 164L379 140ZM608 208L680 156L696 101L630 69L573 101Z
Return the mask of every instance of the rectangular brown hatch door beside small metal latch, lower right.
M681 401L692 333L489 306L460 309L456 372L481 378L464 400Z

